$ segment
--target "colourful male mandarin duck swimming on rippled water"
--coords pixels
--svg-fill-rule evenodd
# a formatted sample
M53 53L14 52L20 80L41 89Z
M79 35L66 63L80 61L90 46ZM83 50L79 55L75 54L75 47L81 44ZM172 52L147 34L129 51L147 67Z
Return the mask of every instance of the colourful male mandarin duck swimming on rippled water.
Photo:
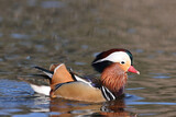
M132 54L127 49L110 49L100 52L92 61L92 67L101 73L100 79L79 77L67 70L64 63L52 65L50 70L35 67L47 75L50 86L35 84L31 86L35 92L51 97L96 103L113 101L124 94L127 72L140 74L132 61Z

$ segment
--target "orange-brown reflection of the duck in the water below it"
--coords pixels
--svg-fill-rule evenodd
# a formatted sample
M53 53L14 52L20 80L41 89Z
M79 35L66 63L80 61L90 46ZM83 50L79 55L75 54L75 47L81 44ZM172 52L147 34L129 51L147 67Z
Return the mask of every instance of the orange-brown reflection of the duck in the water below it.
M51 101L50 112L51 116L105 116L105 117L136 117L136 114L127 110L124 98L105 103L82 103L62 98L53 98Z

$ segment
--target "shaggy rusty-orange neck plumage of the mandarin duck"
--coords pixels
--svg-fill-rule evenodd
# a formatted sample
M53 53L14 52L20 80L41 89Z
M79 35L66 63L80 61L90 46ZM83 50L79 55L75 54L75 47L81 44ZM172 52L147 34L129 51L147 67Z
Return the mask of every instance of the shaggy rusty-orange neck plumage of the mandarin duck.
M102 85L108 87L112 93L117 93L118 95L119 93L123 93L127 79L127 73L119 67L118 63L112 63L101 73Z

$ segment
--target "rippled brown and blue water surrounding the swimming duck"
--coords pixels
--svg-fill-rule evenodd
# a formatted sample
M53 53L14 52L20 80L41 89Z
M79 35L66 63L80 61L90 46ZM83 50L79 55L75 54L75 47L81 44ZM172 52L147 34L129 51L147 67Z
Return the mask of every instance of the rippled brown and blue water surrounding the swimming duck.
M174 14L174 0L0 1L0 116L175 117ZM58 62L99 77L91 60L117 47L132 51L141 72L129 73L122 101L51 100L18 79Z

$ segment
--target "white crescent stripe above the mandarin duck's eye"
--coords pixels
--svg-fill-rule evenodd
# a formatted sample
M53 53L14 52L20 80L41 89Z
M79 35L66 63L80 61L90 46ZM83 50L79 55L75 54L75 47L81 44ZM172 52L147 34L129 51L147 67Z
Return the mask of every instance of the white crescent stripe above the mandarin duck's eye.
M109 56L107 56L103 59L95 61L94 63L106 61L106 60L112 61L112 62L121 62L121 61L127 62L127 61L131 61L130 57L129 57L129 55L127 52L124 52L124 51L117 51L117 52L110 54Z

